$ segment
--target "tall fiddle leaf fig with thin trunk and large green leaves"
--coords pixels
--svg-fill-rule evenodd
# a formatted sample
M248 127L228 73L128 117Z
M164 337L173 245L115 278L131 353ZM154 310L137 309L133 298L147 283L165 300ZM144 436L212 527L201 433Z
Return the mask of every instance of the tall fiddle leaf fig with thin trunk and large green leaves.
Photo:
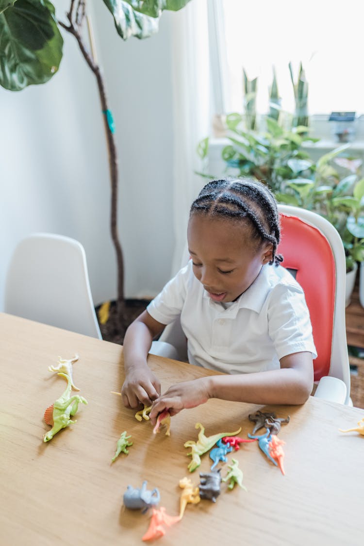
M103 0L114 17L123 40L134 36L148 38L158 32L163 10L177 11L190 0ZM92 70L99 91L100 113L104 118L109 152L111 181L111 238L117 260L117 310L122 321L124 310L124 262L117 229L118 169L114 121L109 108L102 71L85 40L85 20L89 21L87 0L69 0L65 20L59 20L50 0L0 0L0 85L21 91L29 85L49 81L59 69L63 55L61 30L72 34L83 58ZM90 44L90 46L89 46Z

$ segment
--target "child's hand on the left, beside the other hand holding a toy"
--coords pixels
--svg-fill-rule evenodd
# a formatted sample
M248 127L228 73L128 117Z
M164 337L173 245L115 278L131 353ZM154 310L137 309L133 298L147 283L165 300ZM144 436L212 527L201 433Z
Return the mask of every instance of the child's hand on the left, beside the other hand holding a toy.
M127 408L135 409L141 404L151 406L153 400L160 396L159 379L147 365L130 370L122 386L121 396Z

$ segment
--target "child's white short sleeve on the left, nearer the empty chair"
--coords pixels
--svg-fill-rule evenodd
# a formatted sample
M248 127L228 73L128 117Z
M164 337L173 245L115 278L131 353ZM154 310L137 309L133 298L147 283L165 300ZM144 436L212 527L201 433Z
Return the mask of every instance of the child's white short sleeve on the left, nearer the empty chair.
M186 300L190 264L178 271L156 298L147 306L148 313L162 324L170 324L180 316Z

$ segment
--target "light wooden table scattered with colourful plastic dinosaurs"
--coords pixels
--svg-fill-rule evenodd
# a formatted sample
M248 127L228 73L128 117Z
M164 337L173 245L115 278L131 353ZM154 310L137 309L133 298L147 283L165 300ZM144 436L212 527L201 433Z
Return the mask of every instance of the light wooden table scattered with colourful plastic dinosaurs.
M199 471L209 471L212 462L206 454L198 470L187 470L183 444L197 440L195 423L205 426L207 436L242 426L240 436L246 437L253 425L248 414L258 409L290 415L279 433L286 442L285 476L255 442L245 444L234 458L248 491L229 491L223 483L216 503L187 505L160 544L362 545L364 437L338 428L356 425L363 410L313 398L303 406L269 407L210 400L172 418L170 437L153 435L149 422L139 423L120 396L110 394L123 381L121 346L2 313L0 332L2 546L144 544L150 514L123 506L127 485L148 480L148 489L160 491L160 506L177 515L179 480L188 476L198 485ZM48 366L56 365L58 355L75 353L80 359L74 382L88 405L76 424L44 443L44 410L65 387ZM163 390L206 373L160 357L149 362ZM134 444L129 455L110 464L123 430ZM223 477L226 471L223 465Z

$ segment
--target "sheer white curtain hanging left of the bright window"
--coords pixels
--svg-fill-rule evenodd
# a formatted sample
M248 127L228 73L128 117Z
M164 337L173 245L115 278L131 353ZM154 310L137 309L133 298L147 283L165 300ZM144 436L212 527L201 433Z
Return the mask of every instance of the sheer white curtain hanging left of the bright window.
M186 245L189 208L206 183L198 142L210 131L210 63L206 0L192 0L172 22L172 85L174 115L174 230L171 274L180 269Z

